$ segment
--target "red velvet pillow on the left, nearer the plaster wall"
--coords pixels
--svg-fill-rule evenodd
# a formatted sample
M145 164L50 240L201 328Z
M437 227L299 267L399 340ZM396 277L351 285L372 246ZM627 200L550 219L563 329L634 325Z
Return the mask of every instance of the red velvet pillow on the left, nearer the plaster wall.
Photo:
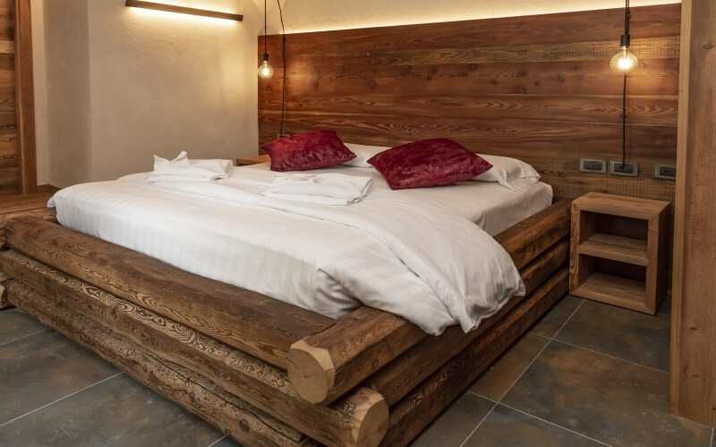
M313 131L274 139L261 148L271 157L271 171L318 169L355 158L335 131Z

